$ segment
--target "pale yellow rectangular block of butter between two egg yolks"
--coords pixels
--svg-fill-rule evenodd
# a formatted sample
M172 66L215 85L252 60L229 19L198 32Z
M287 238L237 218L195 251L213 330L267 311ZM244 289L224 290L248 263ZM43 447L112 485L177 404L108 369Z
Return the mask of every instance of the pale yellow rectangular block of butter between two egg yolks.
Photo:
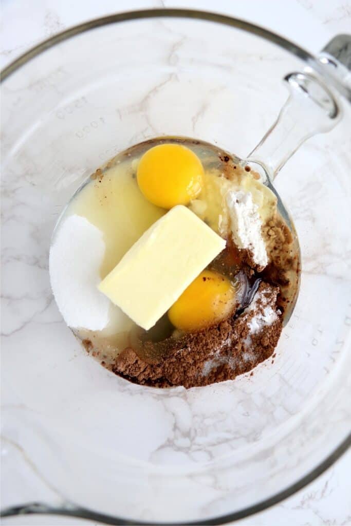
M148 330L225 245L192 211L175 206L144 232L98 288Z

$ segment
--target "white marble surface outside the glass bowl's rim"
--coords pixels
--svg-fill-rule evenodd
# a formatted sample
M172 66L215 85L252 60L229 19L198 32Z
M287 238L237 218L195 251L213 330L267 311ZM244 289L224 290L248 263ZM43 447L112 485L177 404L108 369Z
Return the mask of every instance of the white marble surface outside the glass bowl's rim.
M62 29L84 21L85 19L103 16L125 9L168 6L185 6L182 2L119 1L119 2L85 2L73 4L68 1L46 0L3 3L3 49L1 65L5 66L28 47L35 45L43 38L51 36ZM317 51L328 39L350 29L351 4L348 2L325 2L317 0L299 0L286 4L284 19L277 14L274 2L217 2L216 10L235 16L251 19L254 22L272 28L300 45ZM211 10L212 2L187 2L186 7ZM294 23L295 21L295 23ZM296 27L299 27L298 32ZM298 34L298 38L296 35ZM176 412L176 411L175 411ZM3 443L4 463L9 451L16 448L14 444ZM55 497L54 488L48 487L36 472L31 459L23 459L23 454L11 456L13 477L3 483L3 502L47 500ZM25 461L24 461L25 460ZM262 513L243 521L243 524L270 525L292 524L350 524L350 477L351 453L348 452L323 476L293 497ZM8 473L8 471L7 471ZM86 521L59 519L52 517L15 518L3 520L4 524L84 524Z

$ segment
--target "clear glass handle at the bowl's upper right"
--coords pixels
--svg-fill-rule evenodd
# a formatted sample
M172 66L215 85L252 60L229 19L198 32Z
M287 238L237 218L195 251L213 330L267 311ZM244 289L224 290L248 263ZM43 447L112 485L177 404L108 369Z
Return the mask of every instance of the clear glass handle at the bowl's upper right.
M333 38L320 54L319 63L328 69L332 67L334 77L337 76L338 83L347 90L347 83L351 81L351 36ZM284 78L289 97L273 126L247 158L262 165L271 179L305 140L333 129L342 115L336 95L326 86L325 78L307 69L308 72L294 72ZM330 77L328 72L327 78Z

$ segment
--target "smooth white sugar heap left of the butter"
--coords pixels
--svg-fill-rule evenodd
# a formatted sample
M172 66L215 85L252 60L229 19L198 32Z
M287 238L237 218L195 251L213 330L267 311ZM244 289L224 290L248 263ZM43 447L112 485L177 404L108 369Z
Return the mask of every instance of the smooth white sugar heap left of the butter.
M101 230L84 217L64 220L50 249L50 281L68 327L102 330L111 302L96 287L105 254Z

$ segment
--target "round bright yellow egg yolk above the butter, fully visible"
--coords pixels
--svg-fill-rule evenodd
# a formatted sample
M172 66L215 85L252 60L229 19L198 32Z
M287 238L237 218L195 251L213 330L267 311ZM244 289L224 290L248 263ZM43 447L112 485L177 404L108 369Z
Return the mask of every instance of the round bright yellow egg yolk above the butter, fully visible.
M180 144L161 144L146 151L137 169L142 193L154 205L187 205L198 196L204 168L192 150Z

